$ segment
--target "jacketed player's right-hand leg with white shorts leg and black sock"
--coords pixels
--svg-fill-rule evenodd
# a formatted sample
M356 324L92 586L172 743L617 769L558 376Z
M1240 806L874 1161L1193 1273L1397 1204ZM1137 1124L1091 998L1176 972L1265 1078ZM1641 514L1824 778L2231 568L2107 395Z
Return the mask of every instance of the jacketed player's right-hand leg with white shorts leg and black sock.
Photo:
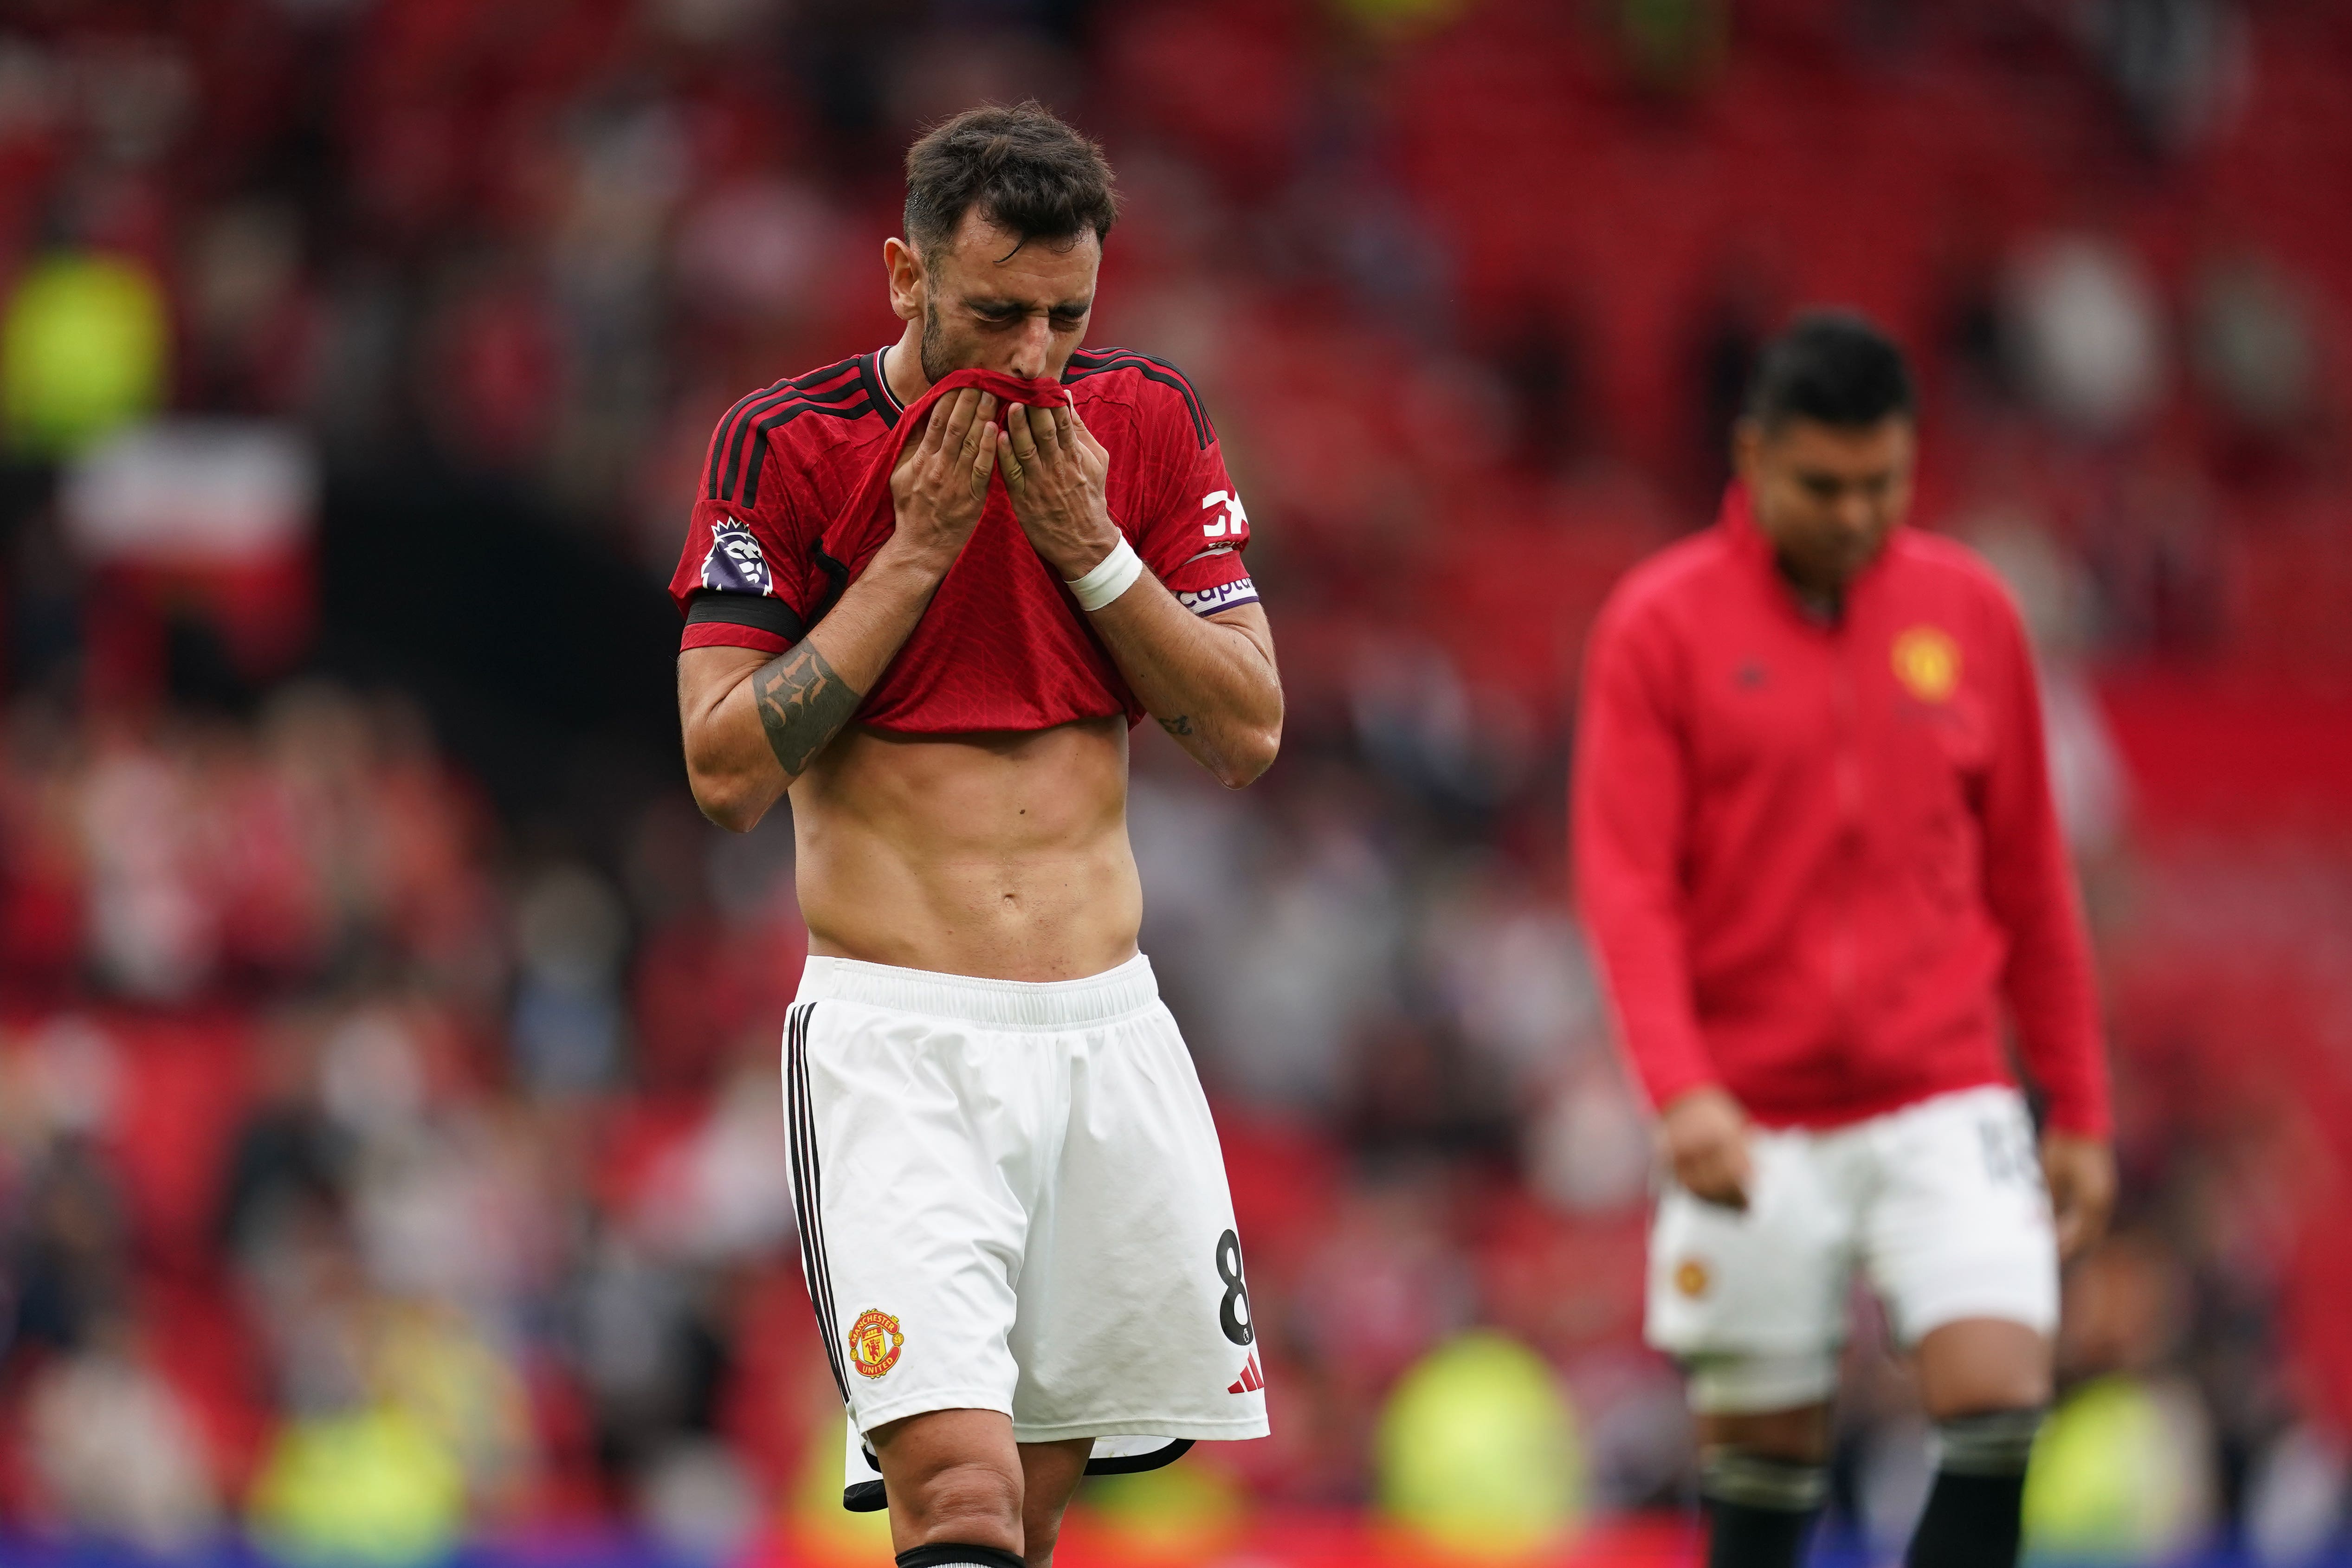
M2011 1568L2025 1462L2051 1396L2058 1241L2023 1100L1940 1095L1886 1117L1872 1279L1936 1422L1915 1568Z

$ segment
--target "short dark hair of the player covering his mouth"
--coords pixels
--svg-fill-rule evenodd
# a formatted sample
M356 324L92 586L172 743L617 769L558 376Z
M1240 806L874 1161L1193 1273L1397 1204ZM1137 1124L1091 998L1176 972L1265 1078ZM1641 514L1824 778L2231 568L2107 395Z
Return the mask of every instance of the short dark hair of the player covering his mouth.
M1089 228L1101 242L1120 193L1103 148L1028 99L967 108L906 150L906 237L917 252L948 244L974 207L1021 244L1061 244Z

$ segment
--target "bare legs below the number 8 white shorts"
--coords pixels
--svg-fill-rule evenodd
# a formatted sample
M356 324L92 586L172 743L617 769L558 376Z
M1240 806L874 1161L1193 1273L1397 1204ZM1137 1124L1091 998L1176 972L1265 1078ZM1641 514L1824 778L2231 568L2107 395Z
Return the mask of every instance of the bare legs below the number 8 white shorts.
M1014 1443L1000 1410L929 1410L868 1434L906 1568L1044 1568L1091 1439Z

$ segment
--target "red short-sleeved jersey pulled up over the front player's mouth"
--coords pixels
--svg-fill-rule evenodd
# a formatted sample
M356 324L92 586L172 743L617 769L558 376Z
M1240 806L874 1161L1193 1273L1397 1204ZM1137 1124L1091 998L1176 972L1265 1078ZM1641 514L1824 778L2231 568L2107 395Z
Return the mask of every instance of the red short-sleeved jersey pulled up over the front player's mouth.
M962 386L1000 402L1068 400L1110 451L1110 515L1143 564L1195 614L1256 602L1242 564L1249 512L1200 395L1167 362L1080 350L1058 386L957 371L901 407L882 353L870 353L779 381L720 421L670 578L687 616L682 646L781 654L807 637L896 527L889 470L901 444ZM1077 599L1021 531L1002 475L990 480L978 527L858 722L957 733L1122 710L1129 724L1143 719Z

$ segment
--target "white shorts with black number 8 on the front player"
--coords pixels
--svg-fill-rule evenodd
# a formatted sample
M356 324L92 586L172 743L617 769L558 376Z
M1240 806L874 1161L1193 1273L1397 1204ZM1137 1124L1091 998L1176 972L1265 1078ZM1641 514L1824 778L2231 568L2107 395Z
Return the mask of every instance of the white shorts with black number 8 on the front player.
M1030 985L811 957L783 1041L800 1255L861 1434L1002 1410L1089 1474L1265 1436L1242 1239L1152 966Z

